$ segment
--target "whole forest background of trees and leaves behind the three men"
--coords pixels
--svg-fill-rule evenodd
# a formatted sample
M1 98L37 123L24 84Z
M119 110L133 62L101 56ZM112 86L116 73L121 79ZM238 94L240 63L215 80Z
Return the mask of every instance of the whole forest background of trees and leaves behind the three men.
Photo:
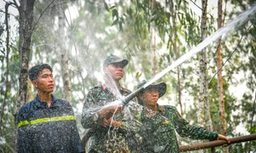
M73 105L81 137L88 90L104 82L109 54L129 60L122 84L131 91L172 65L239 14L253 0L1 0L0 151L15 152L15 116L36 94L27 79L32 65L53 67L57 98ZM254 17L253 17L254 16ZM177 106L191 124L236 137L256 133L255 14L172 69L160 104ZM179 138L180 144L198 141ZM256 150L255 141L231 152ZM217 150L224 150L218 148ZM226 151L226 150L225 150Z

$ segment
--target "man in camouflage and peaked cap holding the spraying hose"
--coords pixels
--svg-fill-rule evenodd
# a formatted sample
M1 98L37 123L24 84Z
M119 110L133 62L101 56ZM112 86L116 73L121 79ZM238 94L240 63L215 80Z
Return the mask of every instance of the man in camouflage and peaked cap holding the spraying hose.
M86 139L91 140L89 152L132 152L137 143L135 133L139 127L134 121L137 104L133 101L122 107L122 96L131 94L119 81L124 76L127 59L110 54L103 63L106 82L91 88L84 101L82 125L90 128ZM137 101L137 100L135 100ZM137 138L136 138L137 139ZM128 146L129 144L129 146Z

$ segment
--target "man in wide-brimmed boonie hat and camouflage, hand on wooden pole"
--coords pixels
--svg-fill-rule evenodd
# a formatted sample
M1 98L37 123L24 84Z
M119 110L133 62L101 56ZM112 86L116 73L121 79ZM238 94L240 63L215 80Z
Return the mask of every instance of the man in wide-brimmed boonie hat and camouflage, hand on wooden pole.
M141 82L137 88L143 87ZM212 133L204 127L189 125L171 105L158 105L157 101L166 93L166 83L152 84L137 94L138 103L143 105L141 116L142 152L179 152L175 131L189 139L229 139Z

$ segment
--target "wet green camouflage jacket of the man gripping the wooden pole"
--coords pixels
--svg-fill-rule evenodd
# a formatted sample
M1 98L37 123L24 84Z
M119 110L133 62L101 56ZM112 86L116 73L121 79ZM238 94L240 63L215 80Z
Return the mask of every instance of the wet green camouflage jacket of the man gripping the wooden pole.
M142 152L179 152L175 131L189 139L215 140L218 133L212 133L204 127L189 125L174 106L158 105L157 113L152 117L141 116L143 137Z

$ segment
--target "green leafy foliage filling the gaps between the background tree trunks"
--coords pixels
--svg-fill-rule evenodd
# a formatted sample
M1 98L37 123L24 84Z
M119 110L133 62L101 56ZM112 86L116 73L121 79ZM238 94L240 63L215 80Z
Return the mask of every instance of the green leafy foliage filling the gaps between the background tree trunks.
M160 41L156 45L157 73L171 65L179 55L188 52L189 48L195 47L201 42L201 15L189 8L190 1L173 1L176 23L172 23L170 1L143 1L131 0L128 2L106 3L102 1L68 1L65 2L65 10L77 8L77 16L68 20L66 31L66 49L69 55L70 77L72 82L72 102L83 104L89 88L102 83L102 61L110 53L118 53L129 59L129 65L125 67L126 76L124 84L136 88L141 79L152 77L151 63L152 53L150 51L150 25L157 31ZM225 20L232 20L237 14L250 8L253 1L229 1L234 3L234 12L227 12ZM83 4L84 3L84 4ZM237 9L241 8L241 11ZM239 10L239 9L238 9ZM43 14L44 13L44 14ZM215 14L207 14L207 36L216 31L217 20ZM227 19L226 19L227 18ZM49 63L54 67L55 96L63 97L60 52L56 42L61 42L56 35L57 11L55 5L48 1L38 1L34 11L35 29L32 35L32 54L29 65L38 63ZM68 19L68 18L67 18ZM66 19L66 20L67 20ZM224 23L225 25L225 23ZM177 55L174 52L173 27L176 28ZM0 46L4 46L3 23L0 25ZM242 38L242 39L241 39ZM20 55L18 53L17 38L13 38L10 54L9 77L11 90L8 92L1 135L0 148L9 146L6 151L14 150L15 139L15 101L18 97ZM240 124L247 125L249 133L255 133L255 77L256 59L255 52L256 28L255 18L250 20L232 36L224 37L222 43L223 60L228 61L223 68L224 72L224 102L229 135L238 136L236 127ZM64 45L64 44L63 44ZM215 44L209 45L208 58L208 80L212 77L208 87L208 99L212 116L214 131L221 133L219 128L218 113L218 82L214 74L217 72L215 65ZM234 52L234 53L233 53ZM5 66L6 48L0 47L1 75L7 71ZM179 65L181 87L177 85L177 69L168 72L160 81L168 85L166 95L163 97L171 105L177 104L177 91L182 90L182 104L185 118L196 125L197 101L198 101L198 58L192 58ZM237 74L241 77L237 79ZM242 74L242 75L241 75ZM236 93L231 93L230 88L245 83L247 91L241 97L236 98ZM5 77L0 80L0 101L3 101ZM132 88L130 88L132 89ZM241 89L244 90L244 89ZM32 94L35 94L33 92ZM190 103L191 105L188 105ZM254 109L253 109L254 108ZM83 131L83 130L82 130ZM3 142L4 139L4 142ZM232 144L231 152L245 152L255 150L255 142L245 144ZM4 150L5 151L5 150ZM221 147L218 149L221 152Z

